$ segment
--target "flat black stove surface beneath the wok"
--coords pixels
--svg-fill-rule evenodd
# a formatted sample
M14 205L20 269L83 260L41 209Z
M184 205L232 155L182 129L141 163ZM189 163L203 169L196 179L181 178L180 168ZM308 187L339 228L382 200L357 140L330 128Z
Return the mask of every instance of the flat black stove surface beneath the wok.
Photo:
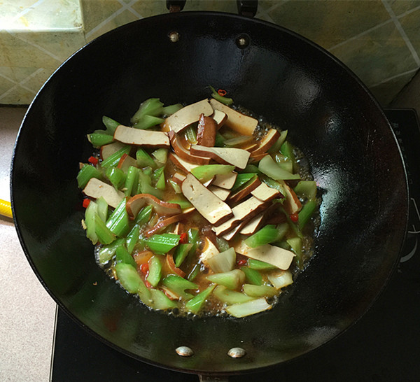
M229 381L420 381L420 130L412 109L388 109L409 177L409 232L398 269L363 318L321 348ZM57 310L51 381L198 381L106 346Z

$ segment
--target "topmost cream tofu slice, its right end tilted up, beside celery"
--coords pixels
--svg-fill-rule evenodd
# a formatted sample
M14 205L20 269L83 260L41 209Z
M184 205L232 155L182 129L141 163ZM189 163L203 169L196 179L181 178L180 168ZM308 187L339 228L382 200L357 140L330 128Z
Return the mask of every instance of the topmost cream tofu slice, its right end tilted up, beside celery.
M162 127L163 131L169 132L173 130L178 133L185 129L188 125L197 122L200 119L200 115L204 114L205 117L213 114L213 108L209 104L208 99L195 102L181 108L181 110L170 115L164 122Z

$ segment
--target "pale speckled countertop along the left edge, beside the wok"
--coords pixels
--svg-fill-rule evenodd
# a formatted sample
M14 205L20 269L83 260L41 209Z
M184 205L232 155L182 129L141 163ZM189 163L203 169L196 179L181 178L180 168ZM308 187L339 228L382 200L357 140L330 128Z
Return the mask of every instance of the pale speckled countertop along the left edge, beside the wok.
M0 107L0 199L10 201L10 161L26 108ZM13 220L0 216L0 381L49 380L54 300L32 271Z

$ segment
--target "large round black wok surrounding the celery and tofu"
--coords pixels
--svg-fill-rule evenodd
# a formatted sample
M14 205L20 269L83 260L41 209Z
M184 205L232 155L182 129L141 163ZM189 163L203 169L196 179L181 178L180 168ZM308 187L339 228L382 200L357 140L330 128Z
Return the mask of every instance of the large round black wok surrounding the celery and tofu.
M274 309L248 318L192 320L149 311L99 269L80 227L78 163L90 156L86 134L102 128L102 115L128 124L148 97L189 104L207 97L208 85L288 129L322 193L309 266ZM127 355L200 374L277 365L346 330L393 271L408 210L395 137L349 69L281 27L200 12L127 24L69 58L22 122L11 194L27 258L66 313ZM194 355L179 356L179 346ZM230 358L235 347L246 355Z

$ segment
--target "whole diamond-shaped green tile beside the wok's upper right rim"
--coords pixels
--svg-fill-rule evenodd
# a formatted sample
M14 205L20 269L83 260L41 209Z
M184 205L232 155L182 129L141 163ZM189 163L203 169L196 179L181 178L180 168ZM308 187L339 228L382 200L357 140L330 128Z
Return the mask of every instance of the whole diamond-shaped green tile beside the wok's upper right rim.
M393 22L330 51L368 86L417 67Z

